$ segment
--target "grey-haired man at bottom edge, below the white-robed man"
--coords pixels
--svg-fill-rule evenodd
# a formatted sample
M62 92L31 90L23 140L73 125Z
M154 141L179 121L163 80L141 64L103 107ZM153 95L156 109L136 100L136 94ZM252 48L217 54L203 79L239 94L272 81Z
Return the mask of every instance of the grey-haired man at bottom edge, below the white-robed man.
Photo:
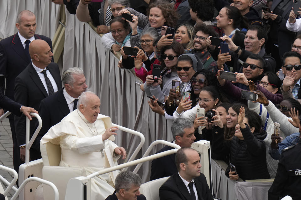
M146 200L140 194L141 178L130 171L120 172L115 179L115 191L105 200Z

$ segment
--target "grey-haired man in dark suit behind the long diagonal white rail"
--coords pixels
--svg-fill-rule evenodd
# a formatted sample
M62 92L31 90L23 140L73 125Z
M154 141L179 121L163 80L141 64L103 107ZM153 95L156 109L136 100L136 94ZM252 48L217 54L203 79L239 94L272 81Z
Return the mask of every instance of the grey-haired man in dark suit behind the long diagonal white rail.
M184 118L177 118L172 123L172 136L174 139L173 143L179 145L180 147L191 147L191 144L194 143L195 140L194 131L195 130L192 122ZM165 146L156 153L161 153L170 149L173 149L173 147ZM150 181L171 176L172 174L176 173L177 167L175 156L176 154L174 153L154 159L151 162Z

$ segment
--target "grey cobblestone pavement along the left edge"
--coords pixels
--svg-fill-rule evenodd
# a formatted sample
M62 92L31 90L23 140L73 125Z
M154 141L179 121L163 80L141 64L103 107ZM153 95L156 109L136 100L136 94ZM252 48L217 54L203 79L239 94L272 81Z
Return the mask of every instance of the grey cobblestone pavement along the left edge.
M2 123L0 122L0 134L0 164L13 169L13 140L8 118L5 118ZM13 180L12 175L6 171L0 170L0 175L9 182ZM4 189L6 188L3 184L2 186ZM9 191L8 199L11 199L14 193L13 190Z

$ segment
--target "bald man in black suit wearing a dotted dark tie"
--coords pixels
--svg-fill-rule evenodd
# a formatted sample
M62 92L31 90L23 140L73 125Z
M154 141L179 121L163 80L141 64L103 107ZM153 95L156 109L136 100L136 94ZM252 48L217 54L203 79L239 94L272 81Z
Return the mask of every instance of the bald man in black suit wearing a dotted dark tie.
M15 79L15 101L38 110L41 100L62 88L59 67L51 63L52 52L44 40L30 42L29 54L32 62ZM36 120L30 122L31 134ZM25 161L25 117L14 118L20 158ZM40 152L30 150L31 160L41 158Z

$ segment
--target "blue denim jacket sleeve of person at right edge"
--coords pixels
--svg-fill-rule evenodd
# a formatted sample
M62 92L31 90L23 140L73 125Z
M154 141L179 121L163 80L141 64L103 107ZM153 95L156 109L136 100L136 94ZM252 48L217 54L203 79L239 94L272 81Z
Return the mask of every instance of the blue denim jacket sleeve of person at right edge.
M270 145L269 148L270 156L275 160L279 160L283 149L292 145L296 145L299 142L299 138L300 138L300 133L293 133L290 136L286 137L281 143L279 143L278 149L272 149Z

